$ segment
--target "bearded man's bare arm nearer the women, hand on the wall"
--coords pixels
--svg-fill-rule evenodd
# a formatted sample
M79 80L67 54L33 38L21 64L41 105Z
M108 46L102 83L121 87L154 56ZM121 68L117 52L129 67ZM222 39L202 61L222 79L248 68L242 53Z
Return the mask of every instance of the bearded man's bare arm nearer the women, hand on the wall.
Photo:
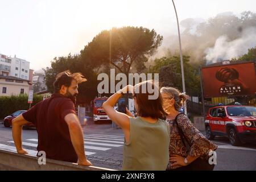
M84 137L82 135L82 127L80 126L79 119L77 118L76 114L73 113L67 114L64 119L68 124L71 142L79 158L77 163L82 166L92 166L92 163L90 163L85 156Z

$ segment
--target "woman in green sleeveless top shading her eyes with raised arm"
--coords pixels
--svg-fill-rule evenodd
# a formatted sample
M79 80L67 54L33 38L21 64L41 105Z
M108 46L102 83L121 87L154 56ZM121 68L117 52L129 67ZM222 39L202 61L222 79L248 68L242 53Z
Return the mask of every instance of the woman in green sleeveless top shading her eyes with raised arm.
M148 92L148 88L154 89L154 92ZM114 109L118 99L129 92L134 97L138 114L136 118ZM166 170L170 128L166 121L159 119L166 114L162 104L159 88L152 81L144 81L135 86L127 85L104 102L106 114L125 134L123 170Z

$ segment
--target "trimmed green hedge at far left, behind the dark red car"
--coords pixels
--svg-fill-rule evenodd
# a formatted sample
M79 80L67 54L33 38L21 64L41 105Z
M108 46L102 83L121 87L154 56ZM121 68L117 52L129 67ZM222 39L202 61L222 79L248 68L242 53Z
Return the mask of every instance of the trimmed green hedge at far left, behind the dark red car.
M7 115L14 113L17 110L28 110L30 104L27 103L27 94L20 94L19 96L0 96L0 119ZM34 94L33 103L31 107L43 100L43 96Z

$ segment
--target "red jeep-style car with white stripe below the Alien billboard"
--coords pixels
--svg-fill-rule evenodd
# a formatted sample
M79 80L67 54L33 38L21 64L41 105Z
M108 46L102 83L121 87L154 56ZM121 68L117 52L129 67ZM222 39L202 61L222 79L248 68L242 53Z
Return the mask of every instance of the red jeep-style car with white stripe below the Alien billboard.
M256 107L232 105L216 106L208 110L205 119L207 138L225 136L233 146L256 144Z

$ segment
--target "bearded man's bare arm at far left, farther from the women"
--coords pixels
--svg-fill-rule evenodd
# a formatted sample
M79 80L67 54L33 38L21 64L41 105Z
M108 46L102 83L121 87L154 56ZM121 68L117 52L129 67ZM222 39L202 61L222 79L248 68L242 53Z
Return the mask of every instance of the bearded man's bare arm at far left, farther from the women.
M26 150L22 148L22 126L28 123L22 114L13 119L13 140L16 146L16 150L19 154L28 154Z

